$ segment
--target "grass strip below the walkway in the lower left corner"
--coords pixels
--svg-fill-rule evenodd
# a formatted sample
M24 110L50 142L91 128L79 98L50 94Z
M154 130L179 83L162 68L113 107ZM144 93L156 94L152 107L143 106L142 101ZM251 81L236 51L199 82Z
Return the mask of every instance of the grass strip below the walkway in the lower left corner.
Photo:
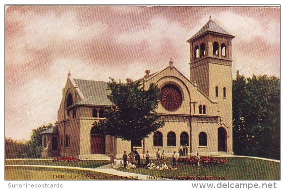
M106 175L104 173L76 169L5 167L6 180L103 180ZM126 178L119 179L126 180Z

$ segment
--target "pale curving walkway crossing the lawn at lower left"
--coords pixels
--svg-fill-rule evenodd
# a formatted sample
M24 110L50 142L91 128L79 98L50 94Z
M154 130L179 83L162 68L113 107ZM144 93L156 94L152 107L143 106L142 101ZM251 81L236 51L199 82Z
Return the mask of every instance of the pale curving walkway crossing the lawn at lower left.
M115 169L110 168L109 164L98 167L98 168L81 168L81 167L68 167L68 166L43 166L43 165L5 165L5 166L77 169L77 170L85 170L85 171L95 171L95 172L105 173L105 174L114 175L114 176L123 176L123 177L128 177L130 179L141 179L141 180L155 179L155 177L150 176L150 175L142 175L142 174L137 174L137 173L130 173L130 172L115 170Z

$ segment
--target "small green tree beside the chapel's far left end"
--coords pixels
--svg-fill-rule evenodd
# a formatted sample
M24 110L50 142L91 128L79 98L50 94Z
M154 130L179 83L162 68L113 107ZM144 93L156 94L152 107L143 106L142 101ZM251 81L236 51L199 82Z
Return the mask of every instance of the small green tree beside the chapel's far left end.
M50 127L52 127L52 124L48 123L47 125L41 125L36 129L33 129L31 139L27 143L27 154L29 158L40 158L42 149L42 135L40 133L49 129Z

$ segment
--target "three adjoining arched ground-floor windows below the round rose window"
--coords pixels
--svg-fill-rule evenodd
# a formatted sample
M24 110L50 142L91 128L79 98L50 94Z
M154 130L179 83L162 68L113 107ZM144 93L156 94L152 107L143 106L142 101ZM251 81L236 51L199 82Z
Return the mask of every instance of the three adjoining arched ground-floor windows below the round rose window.
M189 145L189 136L187 132L180 134L180 144ZM153 134L153 147L163 147L162 133L159 131ZM167 147L176 147L176 134L173 131L167 133Z

